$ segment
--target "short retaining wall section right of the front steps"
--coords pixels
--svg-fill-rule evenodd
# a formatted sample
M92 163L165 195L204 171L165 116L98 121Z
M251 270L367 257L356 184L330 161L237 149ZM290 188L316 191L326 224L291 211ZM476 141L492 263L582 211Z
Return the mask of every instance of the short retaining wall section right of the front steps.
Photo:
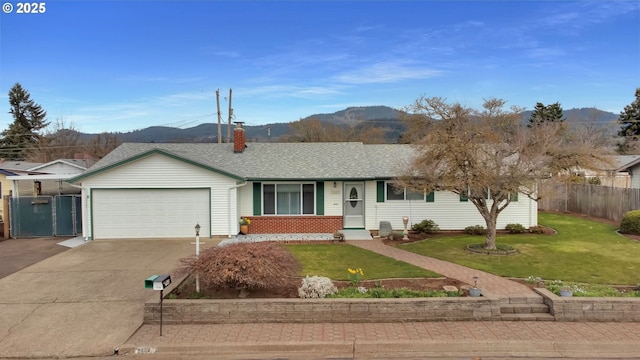
M556 321L640 321L640 298L560 297L546 289L535 289Z

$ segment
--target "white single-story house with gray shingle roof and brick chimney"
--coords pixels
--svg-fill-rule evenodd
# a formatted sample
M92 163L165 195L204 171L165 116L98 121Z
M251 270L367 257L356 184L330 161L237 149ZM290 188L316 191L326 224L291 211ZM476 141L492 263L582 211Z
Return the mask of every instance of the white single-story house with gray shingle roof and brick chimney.
M330 233L402 229L434 220L463 229L484 220L471 202L450 192L392 190L411 145L362 143L123 144L83 174L83 235L91 239L233 236L239 218L250 233ZM499 217L537 225L537 204L516 198Z

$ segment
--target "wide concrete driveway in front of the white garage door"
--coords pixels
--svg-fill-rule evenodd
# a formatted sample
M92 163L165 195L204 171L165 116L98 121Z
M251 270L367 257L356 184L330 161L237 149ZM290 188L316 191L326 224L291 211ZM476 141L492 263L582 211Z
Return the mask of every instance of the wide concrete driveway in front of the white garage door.
M191 241L92 241L0 279L0 358L112 354L159 300L144 279L174 272Z

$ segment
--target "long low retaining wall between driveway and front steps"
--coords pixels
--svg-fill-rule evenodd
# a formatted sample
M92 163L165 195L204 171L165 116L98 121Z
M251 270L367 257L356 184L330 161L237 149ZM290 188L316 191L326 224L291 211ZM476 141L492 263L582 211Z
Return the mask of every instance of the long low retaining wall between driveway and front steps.
M500 300L492 297L164 300L162 314L164 324L409 322L499 316ZM159 322L160 304L145 304L144 323Z

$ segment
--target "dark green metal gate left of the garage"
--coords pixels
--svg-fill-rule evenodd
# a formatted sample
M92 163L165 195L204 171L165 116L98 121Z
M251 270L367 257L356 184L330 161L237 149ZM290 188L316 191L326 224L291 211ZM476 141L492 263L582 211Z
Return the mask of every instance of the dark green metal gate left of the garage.
M80 195L9 199L11 236L75 236L82 233Z

